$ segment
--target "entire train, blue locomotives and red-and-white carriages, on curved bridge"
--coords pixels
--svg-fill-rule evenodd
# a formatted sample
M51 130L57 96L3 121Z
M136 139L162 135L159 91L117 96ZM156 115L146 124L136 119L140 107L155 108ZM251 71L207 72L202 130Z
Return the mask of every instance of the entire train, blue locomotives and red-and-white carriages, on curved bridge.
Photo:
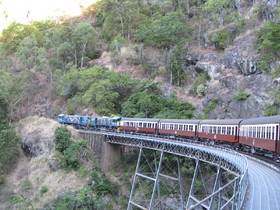
M239 150L262 154L280 161L280 115L251 119L195 120L59 114L57 121L80 129L108 129L227 143Z

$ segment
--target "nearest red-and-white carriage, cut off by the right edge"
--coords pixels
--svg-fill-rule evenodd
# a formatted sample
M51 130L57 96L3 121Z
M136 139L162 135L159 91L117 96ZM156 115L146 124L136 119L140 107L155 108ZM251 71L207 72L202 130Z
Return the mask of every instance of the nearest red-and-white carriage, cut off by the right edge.
M242 120L239 143L280 153L280 115Z

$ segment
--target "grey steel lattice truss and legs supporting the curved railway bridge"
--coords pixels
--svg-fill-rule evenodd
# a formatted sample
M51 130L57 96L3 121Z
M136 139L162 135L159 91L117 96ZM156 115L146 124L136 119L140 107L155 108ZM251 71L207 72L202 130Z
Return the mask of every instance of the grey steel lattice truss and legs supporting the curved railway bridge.
M128 209L241 209L248 166L239 153L179 138L103 135L140 148Z

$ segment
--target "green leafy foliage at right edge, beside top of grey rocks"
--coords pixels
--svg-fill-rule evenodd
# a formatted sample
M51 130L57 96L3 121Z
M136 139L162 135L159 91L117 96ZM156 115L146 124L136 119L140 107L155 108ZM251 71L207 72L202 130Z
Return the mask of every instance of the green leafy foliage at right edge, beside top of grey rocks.
M259 52L262 54L263 62L269 63L280 53L280 24L268 21L258 32Z

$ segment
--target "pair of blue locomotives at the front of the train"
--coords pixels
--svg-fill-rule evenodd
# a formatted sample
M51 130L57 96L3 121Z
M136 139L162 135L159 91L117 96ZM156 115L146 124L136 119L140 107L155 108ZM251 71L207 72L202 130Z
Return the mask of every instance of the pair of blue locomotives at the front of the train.
M116 130L120 126L121 117L88 117L81 115L59 114L57 121L61 124L72 125L75 128L111 128Z

